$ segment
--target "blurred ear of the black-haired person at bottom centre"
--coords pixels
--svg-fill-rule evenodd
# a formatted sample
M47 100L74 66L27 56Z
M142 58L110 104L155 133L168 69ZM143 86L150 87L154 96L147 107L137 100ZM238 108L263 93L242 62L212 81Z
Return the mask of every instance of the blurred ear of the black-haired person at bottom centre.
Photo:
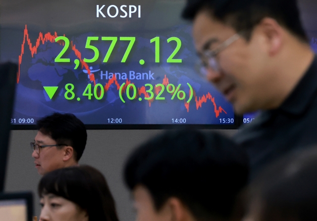
M195 220L186 207L178 198L171 197L167 200L166 206L171 212L171 221L193 221Z

